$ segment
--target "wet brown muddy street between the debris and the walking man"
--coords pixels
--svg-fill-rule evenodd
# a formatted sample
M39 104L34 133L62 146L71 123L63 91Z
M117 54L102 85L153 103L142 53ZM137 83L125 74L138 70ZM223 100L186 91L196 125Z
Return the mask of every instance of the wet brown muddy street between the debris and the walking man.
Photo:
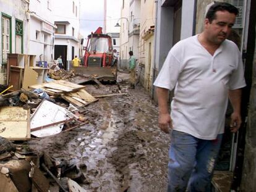
M33 151L45 151L80 167L87 191L166 191L169 135L160 131L156 104L139 85L128 87L128 74L117 85L85 85L100 98L87 106L90 122L72 131L30 140Z

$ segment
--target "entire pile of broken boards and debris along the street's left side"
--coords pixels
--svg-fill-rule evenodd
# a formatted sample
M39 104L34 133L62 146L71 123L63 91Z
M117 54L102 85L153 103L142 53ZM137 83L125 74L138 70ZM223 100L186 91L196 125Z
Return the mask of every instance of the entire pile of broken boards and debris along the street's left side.
M1 191L85 191L77 184L85 182L79 167L11 141L39 140L81 127L89 123L85 106L95 101L85 86L64 80L1 94Z

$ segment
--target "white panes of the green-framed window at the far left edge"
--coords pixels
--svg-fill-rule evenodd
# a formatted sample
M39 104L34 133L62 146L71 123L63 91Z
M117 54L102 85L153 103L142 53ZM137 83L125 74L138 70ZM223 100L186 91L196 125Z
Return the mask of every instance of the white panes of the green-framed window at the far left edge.
M7 54L10 52L10 19L2 17L2 62L7 63Z

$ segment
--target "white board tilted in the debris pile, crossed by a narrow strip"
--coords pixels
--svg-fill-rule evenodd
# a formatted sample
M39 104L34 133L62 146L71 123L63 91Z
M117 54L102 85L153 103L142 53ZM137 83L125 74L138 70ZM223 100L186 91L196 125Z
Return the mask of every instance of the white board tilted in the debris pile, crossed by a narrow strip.
M58 106L50 101L43 101L36 108L36 111L31 117L30 127L43 127L44 125L49 125L54 122L61 122L68 120L67 110L64 107ZM31 131L31 135L37 136L39 138L49 135L56 135L62 131L64 123L59 123L59 125L53 125L51 127L43 128L41 130Z

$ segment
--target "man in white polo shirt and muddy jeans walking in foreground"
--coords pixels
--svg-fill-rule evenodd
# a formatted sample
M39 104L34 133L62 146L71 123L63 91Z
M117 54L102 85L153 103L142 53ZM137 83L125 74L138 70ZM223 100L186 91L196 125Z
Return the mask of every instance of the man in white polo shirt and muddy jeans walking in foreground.
M172 128L168 191L210 191L228 98L231 131L241 125L241 88L245 86L239 49L226 40L238 10L225 2L210 7L204 30L175 44L155 80L159 127ZM171 115L168 91L174 90Z

